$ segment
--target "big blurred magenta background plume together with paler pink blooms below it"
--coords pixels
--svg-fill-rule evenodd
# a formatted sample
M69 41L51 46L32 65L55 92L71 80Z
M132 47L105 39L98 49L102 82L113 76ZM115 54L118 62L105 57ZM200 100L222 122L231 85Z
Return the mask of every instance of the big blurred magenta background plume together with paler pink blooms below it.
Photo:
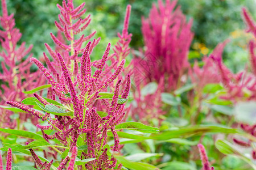
M134 120L147 122L166 113L162 110L161 93L174 91L181 86L181 76L188 70L188 51L193 33L192 20L186 22L177 1L158 1L147 19L142 18L145 52L133 59L135 86L131 108ZM150 82L158 83L155 94L141 95L141 88ZM145 107L147 105L147 107Z

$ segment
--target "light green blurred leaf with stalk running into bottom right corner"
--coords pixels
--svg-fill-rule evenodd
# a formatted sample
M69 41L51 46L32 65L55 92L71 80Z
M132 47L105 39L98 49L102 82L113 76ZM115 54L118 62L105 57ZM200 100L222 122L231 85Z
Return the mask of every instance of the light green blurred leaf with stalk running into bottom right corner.
M237 156L238 158L243 159L245 162L250 164L251 167L256 169L256 165L253 162L251 162L251 160L247 158L247 156L243 155L240 151L236 150L236 147L232 143L228 141L218 140L216 141L215 146L222 154Z

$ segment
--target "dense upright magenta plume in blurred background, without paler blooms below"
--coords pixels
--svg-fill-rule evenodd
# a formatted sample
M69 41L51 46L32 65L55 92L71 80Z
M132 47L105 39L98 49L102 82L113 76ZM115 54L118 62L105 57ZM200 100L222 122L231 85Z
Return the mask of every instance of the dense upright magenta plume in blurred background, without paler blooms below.
M177 1L154 4L147 19L142 18L142 33L146 52L144 59L137 58L134 67L141 68L148 82L165 76L168 90L175 90L181 75L188 69L188 51L193 38L192 20L176 6ZM142 61L141 61L142 60Z

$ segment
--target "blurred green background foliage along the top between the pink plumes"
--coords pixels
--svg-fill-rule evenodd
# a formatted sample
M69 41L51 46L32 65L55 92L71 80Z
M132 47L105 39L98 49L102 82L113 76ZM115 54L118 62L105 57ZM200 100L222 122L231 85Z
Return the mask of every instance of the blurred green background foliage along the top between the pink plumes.
M77 5L84 0L75 0ZM143 47L141 34L141 17L148 16L153 2L156 0L87 0L87 15L92 15L92 22L86 29L88 34L97 30L94 37L101 37L101 42L94 50L93 57L101 57L108 42L117 42L117 32L122 31L125 7L131 4L129 32L133 33L131 48ZM33 44L34 57L40 58L44 51L44 43L53 46L49 33L56 35L55 20L59 14L56 3L60 0L9 0L9 12L14 13L16 27L23 33L22 41ZM254 0L179 0L184 14L193 19L195 37L191 45L189 59L193 62L212 52L218 42L230 39L224 51L224 61L234 72L240 71L247 62L247 41L250 35L245 33L245 24L241 17L241 8L246 6L253 16L256 5ZM255 18L255 17L254 17ZM86 33L85 33L86 34Z

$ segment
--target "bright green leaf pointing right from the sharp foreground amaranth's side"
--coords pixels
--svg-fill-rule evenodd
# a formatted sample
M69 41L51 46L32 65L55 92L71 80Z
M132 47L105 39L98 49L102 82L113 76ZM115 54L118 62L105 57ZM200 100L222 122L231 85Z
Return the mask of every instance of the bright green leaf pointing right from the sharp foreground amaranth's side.
M139 122L125 122L125 123L115 126L115 130L119 130L119 129L136 130L136 131L141 131L143 133L158 133L159 132L158 128L147 126L147 125L144 125Z

